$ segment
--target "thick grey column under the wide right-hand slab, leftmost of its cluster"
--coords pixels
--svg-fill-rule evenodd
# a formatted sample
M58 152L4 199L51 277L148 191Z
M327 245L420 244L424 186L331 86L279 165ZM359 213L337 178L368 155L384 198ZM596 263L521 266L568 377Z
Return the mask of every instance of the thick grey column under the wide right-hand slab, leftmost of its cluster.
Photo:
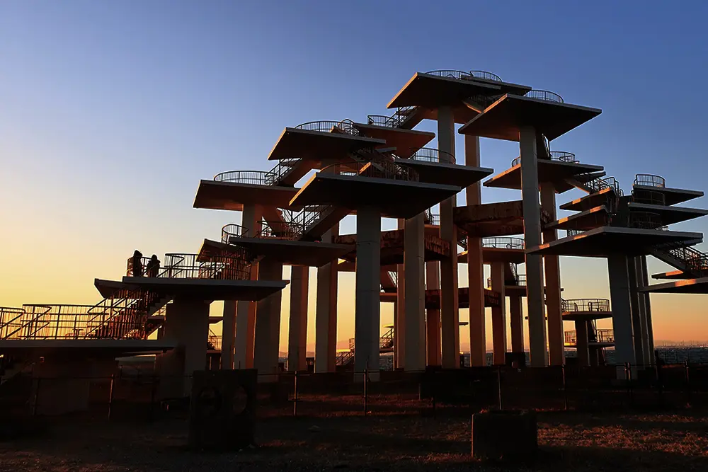
M615 363L636 363L632 335L632 302L629 292L627 256L612 254L607 258L610 272L610 298L612 299L612 328L615 330ZM619 378L624 378L624 368L617 367Z

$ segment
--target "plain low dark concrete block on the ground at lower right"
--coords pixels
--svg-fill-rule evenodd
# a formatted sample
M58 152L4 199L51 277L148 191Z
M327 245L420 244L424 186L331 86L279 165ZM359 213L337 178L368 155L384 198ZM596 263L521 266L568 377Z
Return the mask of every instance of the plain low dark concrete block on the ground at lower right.
M533 411L490 411L472 415L472 457L532 461L538 451Z

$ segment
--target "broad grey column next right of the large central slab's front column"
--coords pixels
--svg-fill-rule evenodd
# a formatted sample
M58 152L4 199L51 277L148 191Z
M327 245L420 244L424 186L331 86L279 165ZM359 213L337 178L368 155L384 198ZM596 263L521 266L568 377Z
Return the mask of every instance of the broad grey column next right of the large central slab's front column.
M406 270L405 364L409 371L426 368L425 214L406 219L404 265Z

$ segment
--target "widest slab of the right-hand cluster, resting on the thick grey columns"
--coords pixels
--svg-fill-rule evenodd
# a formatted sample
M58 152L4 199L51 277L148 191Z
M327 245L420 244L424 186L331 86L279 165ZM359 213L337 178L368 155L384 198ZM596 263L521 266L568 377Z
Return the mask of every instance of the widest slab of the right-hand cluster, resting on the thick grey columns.
M590 258L606 258L612 253L647 255L650 248L658 244L701 239L702 234L700 233L603 226L590 229L585 233L560 238L537 248L527 248L526 252L541 255L578 255Z

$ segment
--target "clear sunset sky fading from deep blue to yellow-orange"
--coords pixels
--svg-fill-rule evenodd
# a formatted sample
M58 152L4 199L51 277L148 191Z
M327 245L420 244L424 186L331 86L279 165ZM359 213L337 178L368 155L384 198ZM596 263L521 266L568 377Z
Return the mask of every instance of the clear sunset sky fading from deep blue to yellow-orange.
M135 248L198 251L240 220L192 208L200 178L267 170L285 126L384 113L416 71L484 69L602 108L552 149L604 165L625 192L635 173L705 190L707 16L703 1L3 1L0 305L91 303L93 278L120 277ZM483 166L515 156L516 143L482 140ZM675 229L706 231L708 219ZM561 258L561 271L565 298L608 297L605 260ZM340 294L346 340L353 275ZM656 338L708 340L707 302L653 295Z

